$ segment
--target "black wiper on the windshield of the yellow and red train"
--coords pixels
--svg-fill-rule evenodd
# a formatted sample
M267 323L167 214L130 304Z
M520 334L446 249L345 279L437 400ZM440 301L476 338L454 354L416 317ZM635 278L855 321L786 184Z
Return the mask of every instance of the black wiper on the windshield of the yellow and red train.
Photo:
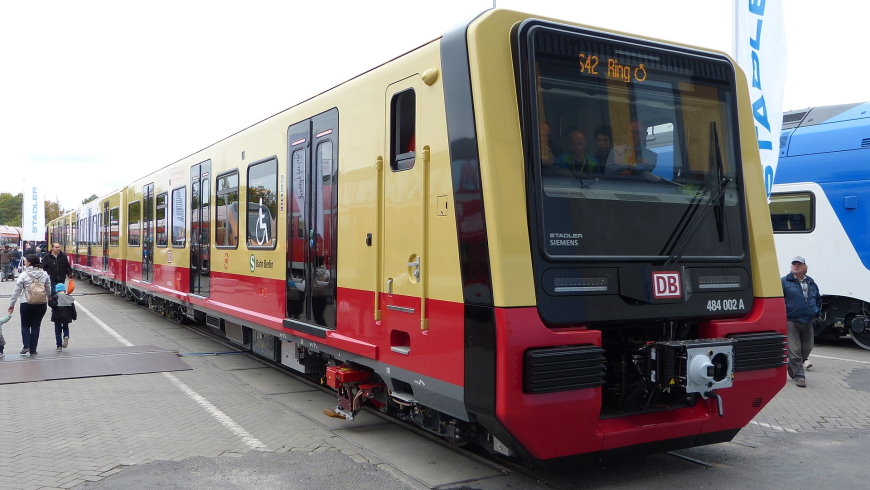
M716 168L716 184L710 191L710 195L706 199L701 200L700 193L698 197L689 204L689 208L683 214L680 220L685 223L684 226L678 227L679 231L675 235L673 245L670 248L667 260L664 265L676 263L683 256L686 247L689 245L692 237L701 228L701 223L707 217L707 211L715 205L716 231L719 235L719 241L725 240L725 189L734 179L725 176L724 166L722 164L722 151L719 148L719 134L716 132L716 122L710 123L710 166Z

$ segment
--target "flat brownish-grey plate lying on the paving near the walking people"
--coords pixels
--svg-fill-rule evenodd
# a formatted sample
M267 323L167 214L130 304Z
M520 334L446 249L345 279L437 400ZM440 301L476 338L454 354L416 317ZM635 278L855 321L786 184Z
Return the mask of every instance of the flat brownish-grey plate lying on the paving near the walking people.
M191 369L174 351L153 345L55 350L35 357L6 354L0 359L0 384L119 376Z

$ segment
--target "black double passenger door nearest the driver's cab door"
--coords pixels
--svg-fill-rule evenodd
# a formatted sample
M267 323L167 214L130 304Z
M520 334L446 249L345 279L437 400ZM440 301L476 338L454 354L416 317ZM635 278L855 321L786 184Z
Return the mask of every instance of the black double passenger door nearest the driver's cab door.
M335 328L338 110L287 132L287 318Z

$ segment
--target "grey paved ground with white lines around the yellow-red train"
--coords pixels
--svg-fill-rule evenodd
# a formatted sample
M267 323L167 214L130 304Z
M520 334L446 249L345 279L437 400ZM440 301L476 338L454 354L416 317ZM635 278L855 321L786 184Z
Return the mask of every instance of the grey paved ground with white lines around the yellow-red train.
M370 413L328 418L334 398L281 370L97 288L75 298L68 350L44 320L37 357L153 345L191 369L0 385L0 488L867 487L870 351L848 340L818 345L808 387L790 382L732 442L530 477ZM17 314L0 369L32 361Z

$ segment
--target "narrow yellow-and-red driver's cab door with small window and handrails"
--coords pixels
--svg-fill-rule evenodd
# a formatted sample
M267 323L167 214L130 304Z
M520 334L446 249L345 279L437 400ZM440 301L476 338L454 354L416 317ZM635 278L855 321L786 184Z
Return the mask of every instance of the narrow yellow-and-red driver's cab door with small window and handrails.
M425 302L423 275L425 216L424 151L417 148L419 76L387 88L385 158L381 184L383 239L381 252L382 318L392 347L408 346L409 333L421 328ZM403 341L404 339L404 341Z

